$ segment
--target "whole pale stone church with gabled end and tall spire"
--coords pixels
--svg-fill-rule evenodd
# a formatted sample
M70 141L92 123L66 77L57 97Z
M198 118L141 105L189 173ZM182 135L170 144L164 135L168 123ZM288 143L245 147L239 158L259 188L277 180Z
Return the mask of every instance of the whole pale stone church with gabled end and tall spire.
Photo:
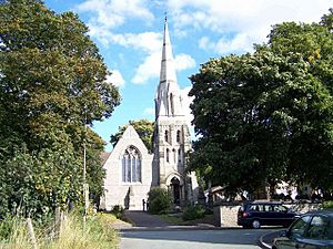
M107 176L100 204L102 209L111 210L120 205L130 210L142 210L148 193L157 186L170 191L175 206L193 204L198 199L195 174L185 173L191 135L176 81L167 19L154 102L153 153L150 154L135 129L129 125L103 162Z

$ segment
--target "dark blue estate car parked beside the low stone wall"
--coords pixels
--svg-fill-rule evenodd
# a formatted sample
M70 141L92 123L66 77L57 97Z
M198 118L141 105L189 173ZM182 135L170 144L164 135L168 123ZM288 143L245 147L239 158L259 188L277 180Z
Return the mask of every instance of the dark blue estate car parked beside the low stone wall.
M289 227L300 217L280 201L245 203L238 212L238 225L243 228L260 228L261 226Z

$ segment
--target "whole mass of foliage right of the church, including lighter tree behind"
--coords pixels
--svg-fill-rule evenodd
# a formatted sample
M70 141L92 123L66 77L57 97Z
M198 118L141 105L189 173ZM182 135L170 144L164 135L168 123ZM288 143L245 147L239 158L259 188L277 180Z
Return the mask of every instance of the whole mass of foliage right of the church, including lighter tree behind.
M333 188L331 18L278 24L253 54L212 59L191 76L200 138L190 169L228 191L280 180Z

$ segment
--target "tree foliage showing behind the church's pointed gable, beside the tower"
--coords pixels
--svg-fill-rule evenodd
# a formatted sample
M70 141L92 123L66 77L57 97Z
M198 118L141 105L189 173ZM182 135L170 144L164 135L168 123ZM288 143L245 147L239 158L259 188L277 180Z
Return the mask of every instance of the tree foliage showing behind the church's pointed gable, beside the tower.
M111 144L113 147L127 129L129 125L132 125L137 133L139 134L140 138L142 139L143 144L148 148L149 152L152 152L152 135L154 132L154 122L148 120L140 120L140 121L130 121L129 124L119 127L118 133L111 135Z

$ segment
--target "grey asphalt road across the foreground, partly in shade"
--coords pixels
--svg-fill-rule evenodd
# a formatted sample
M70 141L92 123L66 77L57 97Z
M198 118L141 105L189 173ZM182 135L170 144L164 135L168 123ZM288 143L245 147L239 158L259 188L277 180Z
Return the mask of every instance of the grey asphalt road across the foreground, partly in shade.
M252 249L273 229L122 231L120 249Z

